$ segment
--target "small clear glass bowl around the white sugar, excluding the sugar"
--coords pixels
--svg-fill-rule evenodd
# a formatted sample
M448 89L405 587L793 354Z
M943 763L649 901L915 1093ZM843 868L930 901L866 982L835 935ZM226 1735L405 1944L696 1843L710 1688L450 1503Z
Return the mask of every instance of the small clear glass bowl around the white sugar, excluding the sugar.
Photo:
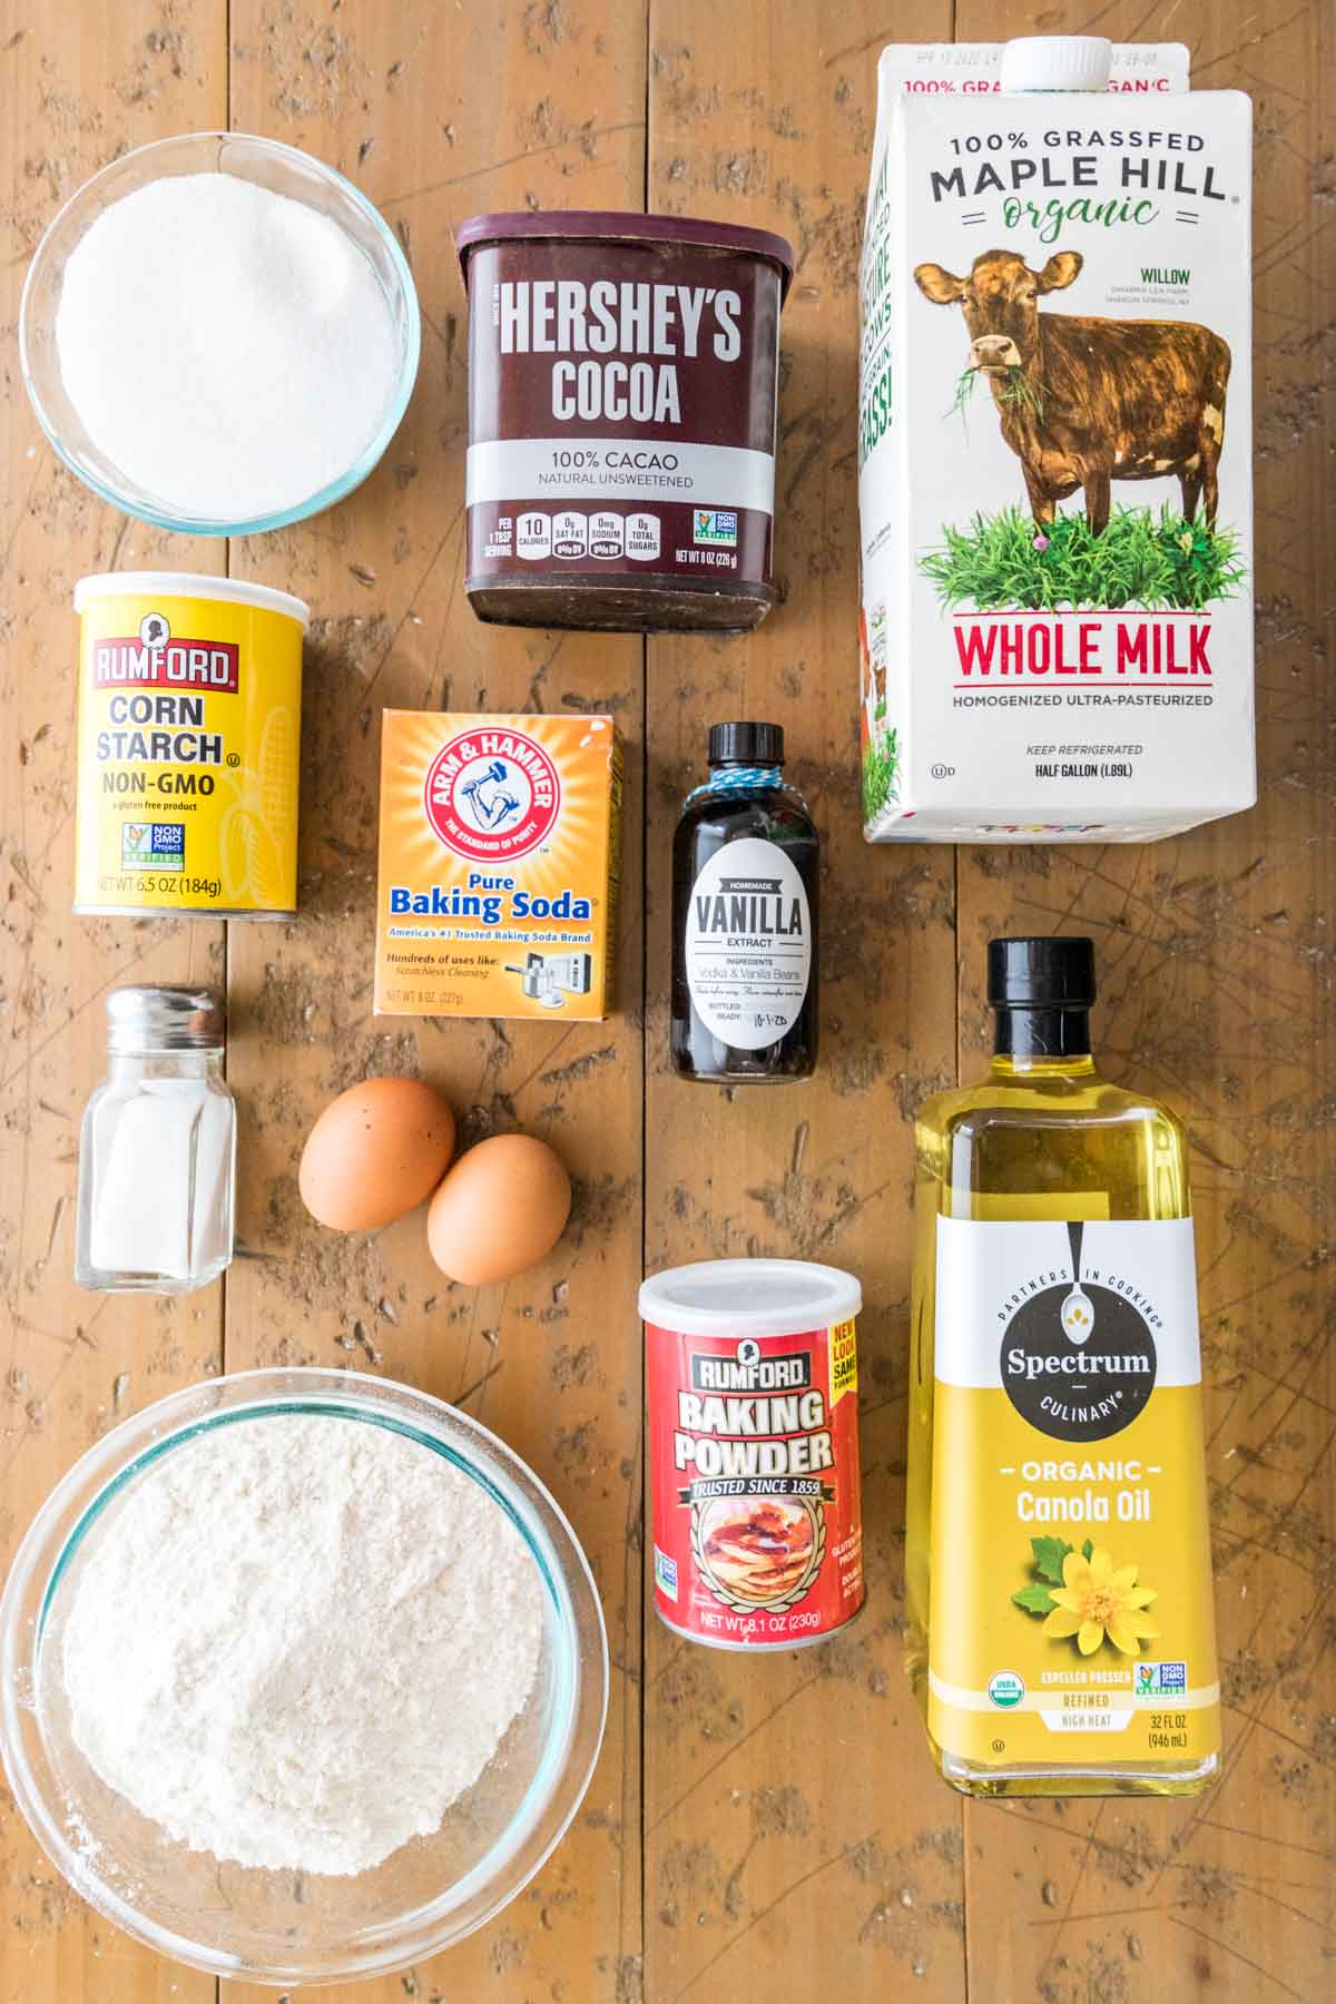
M270 515L254 515L248 521L218 521L208 515L188 515L172 507L170 495L152 495L136 487L88 437L60 377L56 311L60 307L64 267L74 244L104 208L110 208L112 202L118 202L134 188L142 188L150 180L160 180L164 174L238 174L242 180L252 180L274 194L286 194L330 216L375 271L391 311L399 349L399 375L381 425L339 479ZM150 521L158 529L178 529L182 535L256 535L262 529L280 529L284 523L304 521L306 515L318 515L322 509L343 501L347 493L353 493L367 479L395 437L413 395L419 353L421 317L417 289L399 238L385 216L373 208L361 188L355 188L351 180L337 174L332 166L324 166L322 160L314 160L308 152L298 152L296 146L282 146L272 138L254 138L248 132L184 132L178 138L162 138L150 146L136 146L134 152L126 152L120 160L104 166L70 196L46 228L28 267L18 307L18 357L24 385L42 431L64 463L102 501L110 501L140 521Z

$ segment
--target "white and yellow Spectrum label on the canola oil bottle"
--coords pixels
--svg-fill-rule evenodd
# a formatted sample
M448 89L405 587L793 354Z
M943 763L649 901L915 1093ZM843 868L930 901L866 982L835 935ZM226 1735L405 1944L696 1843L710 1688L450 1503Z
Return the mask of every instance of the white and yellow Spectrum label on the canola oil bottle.
M935 1741L1220 1749L1192 1220L937 1218Z

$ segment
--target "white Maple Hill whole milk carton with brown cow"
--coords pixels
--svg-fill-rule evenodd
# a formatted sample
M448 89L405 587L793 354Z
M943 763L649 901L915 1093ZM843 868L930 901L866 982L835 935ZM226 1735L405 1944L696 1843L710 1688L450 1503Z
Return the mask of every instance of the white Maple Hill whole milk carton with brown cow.
M883 52L869 842L1146 842L1256 800L1250 158L1248 98L1178 46Z

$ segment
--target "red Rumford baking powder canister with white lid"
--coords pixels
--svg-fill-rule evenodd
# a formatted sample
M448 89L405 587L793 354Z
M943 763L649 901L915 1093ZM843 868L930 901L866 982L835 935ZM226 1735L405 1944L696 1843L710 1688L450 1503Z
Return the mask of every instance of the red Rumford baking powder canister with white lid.
M655 1607L715 1649L821 1641L863 1605L857 1281L705 1261L641 1287Z

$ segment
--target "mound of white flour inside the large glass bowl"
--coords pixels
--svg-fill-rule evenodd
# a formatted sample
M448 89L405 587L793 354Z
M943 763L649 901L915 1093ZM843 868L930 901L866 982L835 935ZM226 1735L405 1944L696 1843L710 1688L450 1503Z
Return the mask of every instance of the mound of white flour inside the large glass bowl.
M365 1872L441 1826L533 1689L521 1533L383 1427L224 1425L94 1539L62 1653L74 1741L190 1850Z

